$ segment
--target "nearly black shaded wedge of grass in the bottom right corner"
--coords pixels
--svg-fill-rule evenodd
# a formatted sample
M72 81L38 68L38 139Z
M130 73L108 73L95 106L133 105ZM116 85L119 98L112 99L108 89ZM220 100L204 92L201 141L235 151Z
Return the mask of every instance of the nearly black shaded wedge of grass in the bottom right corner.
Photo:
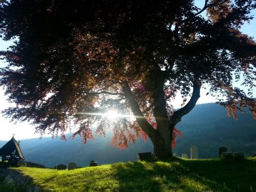
M232 191L256 191L256 158L241 162L209 159L181 160L180 163L190 172Z

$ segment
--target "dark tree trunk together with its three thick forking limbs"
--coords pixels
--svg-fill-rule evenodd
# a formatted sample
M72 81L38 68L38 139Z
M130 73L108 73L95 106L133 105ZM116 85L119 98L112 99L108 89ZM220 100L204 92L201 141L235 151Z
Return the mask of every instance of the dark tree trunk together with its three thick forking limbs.
M155 81L155 89L153 94L154 99L154 117L157 123L157 129L155 129L149 122L146 120L142 111L140 110L140 106L136 102L134 95L129 87L128 82L124 83L123 92L125 97L129 100L129 103L132 108L132 112L134 116L136 116L136 120L138 125L140 125L141 129L149 136L154 145L154 155L159 159L166 159L172 156L172 131L173 128L179 121L181 117L188 114L192 108L196 105L198 98L200 97L200 88L201 82L195 81L193 82L193 93L190 101L179 110L175 111L174 114L169 118L166 110L166 99L164 97L164 81L157 79Z

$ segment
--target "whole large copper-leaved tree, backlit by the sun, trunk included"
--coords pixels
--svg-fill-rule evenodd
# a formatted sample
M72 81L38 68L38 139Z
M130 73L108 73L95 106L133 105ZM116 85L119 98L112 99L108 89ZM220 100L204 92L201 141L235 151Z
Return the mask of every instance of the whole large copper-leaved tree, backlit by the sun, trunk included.
M70 126L86 139L92 127L114 130L112 145L149 137L154 155L171 156L175 126L200 97L203 84L232 111L249 106L255 87L256 43L242 34L253 1L11 0L0 3L4 40L1 85L16 107L13 120L28 120L54 135ZM206 11L207 16L202 16ZM233 87L243 81L246 93ZM186 103L179 110L173 98ZM247 93L248 92L248 93ZM186 98L189 101L186 102ZM118 119L107 120L107 110ZM135 120L129 119L133 114Z

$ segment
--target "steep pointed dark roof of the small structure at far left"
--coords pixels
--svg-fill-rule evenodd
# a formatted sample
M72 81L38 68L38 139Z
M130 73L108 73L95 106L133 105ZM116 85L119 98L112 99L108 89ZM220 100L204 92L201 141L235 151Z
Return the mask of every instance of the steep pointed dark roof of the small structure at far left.
M15 151L15 155L18 156L20 159L24 160L24 156L21 152L20 146L18 141L14 137L11 138L10 141L8 141L1 149L0 149L0 155L2 156L8 156L11 154L11 152Z

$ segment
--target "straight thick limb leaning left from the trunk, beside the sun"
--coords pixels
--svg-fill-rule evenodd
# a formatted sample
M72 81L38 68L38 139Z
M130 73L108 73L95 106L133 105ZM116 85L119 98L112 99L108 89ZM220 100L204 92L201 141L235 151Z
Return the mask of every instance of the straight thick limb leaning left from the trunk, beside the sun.
M144 130L147 136L149 137L153 136L153 133L156 132L156 130L153 128L153 126L149 124L149 122L146 120L146 118L142 114L140 107L138 106L138 103L134 99L134 96L128 85L128 82L124 83L123 91L124 91L125 97L128 99L131 105L133 115L136 117L138 125L140 125L141 129Z

